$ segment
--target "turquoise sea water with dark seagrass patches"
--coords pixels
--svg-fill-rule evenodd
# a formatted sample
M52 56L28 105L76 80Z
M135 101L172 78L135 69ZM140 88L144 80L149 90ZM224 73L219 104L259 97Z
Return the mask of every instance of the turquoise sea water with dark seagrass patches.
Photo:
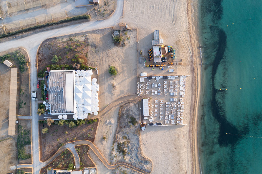
M198 32L208 46L198 120L201 171L260 174L262 1L200 0Z

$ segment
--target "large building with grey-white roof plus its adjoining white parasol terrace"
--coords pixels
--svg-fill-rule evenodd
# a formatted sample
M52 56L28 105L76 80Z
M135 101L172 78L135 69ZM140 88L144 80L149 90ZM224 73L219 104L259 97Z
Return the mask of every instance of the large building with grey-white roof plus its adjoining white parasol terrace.
M88 114L99 111L96 78L91 78L92 70L51 70L48 76L48 101L43 102L51 115L66 119L87 119ZM63 116L62 116L63 114Z

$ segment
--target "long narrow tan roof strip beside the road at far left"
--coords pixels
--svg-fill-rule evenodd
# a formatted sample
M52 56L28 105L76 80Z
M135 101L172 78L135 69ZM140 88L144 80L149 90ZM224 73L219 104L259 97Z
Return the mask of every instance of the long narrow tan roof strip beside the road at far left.
M16 92L17 92L17 68L11 68L8 135L15 134Z

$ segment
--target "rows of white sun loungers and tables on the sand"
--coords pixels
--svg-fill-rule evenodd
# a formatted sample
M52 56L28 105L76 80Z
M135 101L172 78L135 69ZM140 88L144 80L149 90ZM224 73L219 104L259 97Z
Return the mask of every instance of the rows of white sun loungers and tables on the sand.
M176 78L177 77L177 78ZM160 76L161 78L161 76ZM145 85L139 84L139 88L141 89L141 94L143 90L145 90L145 94L150 95L153 98L154 95L161 96L166 98L166 96L170 95L170 101L164 101L159 97L154 99L153 102L149 102L150 108L150 117L144 117L145 120L148 120L149 123L162 121L164 120L164 124L162 125L176 125L176 124L183 124L183 115L184 115L184 102L183 98L185 97L185 78L186 76L168 76L167 79L164 79L164 84L159 82L160 78L156 78L156 82L146 82ZM158 79L158 80L157 80ZM163 81L162 81L163 83ZM151 92L150 92L151 88ZM179 97L176 97L177 95ZM174 97L174 98L173 98ZM160 110L160 111L159 111ZM158 115L159 114L159 115ZM160 120L159 120L160 119ZM154 121L155 120L155 121Z

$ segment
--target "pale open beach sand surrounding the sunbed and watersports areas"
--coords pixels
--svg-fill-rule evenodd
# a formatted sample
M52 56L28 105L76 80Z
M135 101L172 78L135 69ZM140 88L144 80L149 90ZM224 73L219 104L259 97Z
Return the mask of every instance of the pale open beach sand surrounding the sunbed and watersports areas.
M192 84L192 47L187 16L187 1L178 0L125 0L123 23L138 29L138 49L150 48L153 32L158 29L165 45L173 45L176 57L183 59L183 66L173 66L176 73L190 75L186 80L186 126L147 127L141 132L142 151L153 163L152 174L191 173L191 125L194 96ZM138 73L142 72L138 68ZM156 70L155 70L156 71ZM155 74L159 73L153 72ZM163 72L161 72L162 74Z

